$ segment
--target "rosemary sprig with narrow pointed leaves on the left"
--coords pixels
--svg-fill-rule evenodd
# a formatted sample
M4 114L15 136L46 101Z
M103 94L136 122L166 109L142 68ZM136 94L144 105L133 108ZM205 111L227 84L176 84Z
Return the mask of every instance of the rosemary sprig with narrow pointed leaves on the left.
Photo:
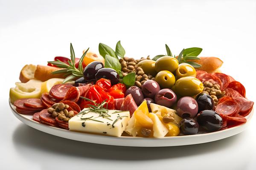
M65 62L62 62L58 59L57 59L57 61L48 61L48 63L56 65L59 68L64 68L64 69L61 69L61 70L58 70L58 71L53 71L52 74L66 73L65 76L67 76L67 77L63 80L62 83L68 82L68 81L73 80L75 78L83 77L82 62L83 62L84 56L87 54L88 50L89 50L89 48L84 52L82 57L79 59L79 66L78 66L78 68L76 68L75 52L74 52L72 43L70 43L70 58L71 58L71 60L68 61L68 64L66 64Z

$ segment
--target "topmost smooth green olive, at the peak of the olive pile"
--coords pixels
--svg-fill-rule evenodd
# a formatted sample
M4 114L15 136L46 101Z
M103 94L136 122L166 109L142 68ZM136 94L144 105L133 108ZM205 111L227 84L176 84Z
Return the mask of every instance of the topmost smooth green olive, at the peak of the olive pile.
M164 56L157 59L155 63L155 69L157 72L167 70L174 72L178 68L179 62L174 57Z

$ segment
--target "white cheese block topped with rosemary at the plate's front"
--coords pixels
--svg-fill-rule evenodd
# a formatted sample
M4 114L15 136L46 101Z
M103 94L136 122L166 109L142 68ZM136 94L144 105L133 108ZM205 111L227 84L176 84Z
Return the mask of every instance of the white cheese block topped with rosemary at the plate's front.
M93 111L87 113L86 110L88 110L88 108L84 110L85 114L81 113L76 115L68 121L69 130L109 136L121 136L130 120L129 111L109 110L107 119Z

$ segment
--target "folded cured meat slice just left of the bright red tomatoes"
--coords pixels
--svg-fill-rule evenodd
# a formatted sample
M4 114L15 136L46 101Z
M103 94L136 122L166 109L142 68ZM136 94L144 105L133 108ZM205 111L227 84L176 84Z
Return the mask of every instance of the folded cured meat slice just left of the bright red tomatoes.
M87 94L87 91L89 90L91 84L87 84L84 86L79 87L72 87L67 91L67 94L65 95L63 100L70 100L72 102L78 102L80 99L80 96L85 97Z

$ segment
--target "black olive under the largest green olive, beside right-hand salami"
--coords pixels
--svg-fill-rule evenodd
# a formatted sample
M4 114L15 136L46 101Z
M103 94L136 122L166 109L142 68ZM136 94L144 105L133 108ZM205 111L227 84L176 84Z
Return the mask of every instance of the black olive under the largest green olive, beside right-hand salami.
M204 110L213 110L214 102L211 96L208 94L198 94L195 98L198 103L198 113Z

